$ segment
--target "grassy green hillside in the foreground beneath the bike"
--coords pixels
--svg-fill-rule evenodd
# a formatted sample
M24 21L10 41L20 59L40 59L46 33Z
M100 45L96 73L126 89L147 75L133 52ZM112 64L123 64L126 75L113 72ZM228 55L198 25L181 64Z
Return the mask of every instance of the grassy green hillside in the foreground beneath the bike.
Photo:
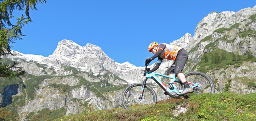
M172 102L172 103L171 103ZM188 100L170 99L154 105L135 105L134 110L124 108L96 110L73 114L54 121L255 121L256 93L203 93ZM179 108L185 113L175 116ZM40 120L40 119L38 119Z

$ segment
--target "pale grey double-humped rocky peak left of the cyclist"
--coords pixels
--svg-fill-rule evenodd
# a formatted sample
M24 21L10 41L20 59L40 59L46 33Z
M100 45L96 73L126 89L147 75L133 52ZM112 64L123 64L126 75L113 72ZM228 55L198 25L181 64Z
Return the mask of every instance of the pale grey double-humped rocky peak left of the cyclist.
M115 66L113 59L109 58L100 47L92 44L87 44L81 47L70 40L62 40L52 55L49 55L47 60L58 58L60 62L67 63L73 67L81 68L82 70L99 71L103 68L110 68Z

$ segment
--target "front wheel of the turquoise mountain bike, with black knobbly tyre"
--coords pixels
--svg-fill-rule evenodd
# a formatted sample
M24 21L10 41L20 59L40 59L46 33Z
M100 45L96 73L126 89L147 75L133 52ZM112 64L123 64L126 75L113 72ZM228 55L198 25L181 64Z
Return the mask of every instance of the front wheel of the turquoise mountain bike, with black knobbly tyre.
M139 99L143 84L134 83L129 85L122 96L122 103L125 109L130 110L136 104L156 104L156 93L149 87L145 86L142 99Z

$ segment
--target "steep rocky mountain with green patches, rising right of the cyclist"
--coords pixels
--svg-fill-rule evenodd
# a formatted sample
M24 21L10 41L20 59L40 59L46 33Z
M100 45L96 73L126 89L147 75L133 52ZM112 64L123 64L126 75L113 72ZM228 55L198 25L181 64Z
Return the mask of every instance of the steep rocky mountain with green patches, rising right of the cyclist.
M205 63L205 73L215 80L217 92L229 90L235 93L255 92L247 83L255 83L255 59L246 60L250 54L256 56L256 6L234 12L212 12L200 21L195 30L193 41L185 47L189 51L186 71L201 70L202 56L210 53L225 53L226 60L221 66ZM232 60L230 54L236 54ZM213 56L211 58L214 58ZM228 60L232 60L231 62ZM201 61L201 62L200 62ZM225 62L226 61L226 62ZM213 69L211 69L212 67ZM202 70L201 70L202 71ZM229 84L230 86L227 86Z

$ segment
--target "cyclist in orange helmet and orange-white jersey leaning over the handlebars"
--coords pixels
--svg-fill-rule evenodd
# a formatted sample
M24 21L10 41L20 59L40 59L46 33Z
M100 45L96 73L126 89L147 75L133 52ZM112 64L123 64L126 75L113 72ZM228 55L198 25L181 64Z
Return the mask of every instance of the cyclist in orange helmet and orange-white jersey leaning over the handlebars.
M194 91L194 89L188 85L185 75L182 73L182 70L184 69L186 61L188 59L188 54L186 50L178 46L173 46L164 43L158 45L157 42L152 42L148 46L148 51L154 53L155 55L145 59L146 64L149 64L153 59L158 57L156 66L153 69L151 69L150 72L154 72L155 70L157 70L161 65L163 59L175 60L175 62L169 67L167 75L172 77L173 73L175 73L175 75L177 75L180 78L181 82L185 87L185 89L180 93L180 95L184 95ZM172 81L172 79L169 80L170 82Z

